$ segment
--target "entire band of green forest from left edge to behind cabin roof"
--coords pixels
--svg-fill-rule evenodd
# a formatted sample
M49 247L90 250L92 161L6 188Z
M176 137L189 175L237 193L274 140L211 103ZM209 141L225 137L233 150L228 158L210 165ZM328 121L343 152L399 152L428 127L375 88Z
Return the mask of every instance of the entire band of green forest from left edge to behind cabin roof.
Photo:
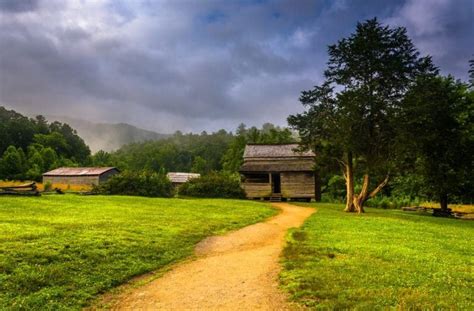
M42 173L61 166L114 166L124 172L159 174L236 173L247 143L295 141L295 133L288 128L270 123L247 128L241 124L235 134L225 130L200 134L177 131L165 139L91 155L68 124L48 123L43 116L28 118L0 107L0 179L39 181Z

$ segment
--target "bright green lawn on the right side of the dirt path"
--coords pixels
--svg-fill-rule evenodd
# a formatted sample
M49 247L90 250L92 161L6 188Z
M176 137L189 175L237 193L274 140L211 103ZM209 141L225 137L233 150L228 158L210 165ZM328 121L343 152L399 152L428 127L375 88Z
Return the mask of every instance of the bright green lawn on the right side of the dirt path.
M313 309L473 310L474 222L399 210L317 212L288 235L282 286Z

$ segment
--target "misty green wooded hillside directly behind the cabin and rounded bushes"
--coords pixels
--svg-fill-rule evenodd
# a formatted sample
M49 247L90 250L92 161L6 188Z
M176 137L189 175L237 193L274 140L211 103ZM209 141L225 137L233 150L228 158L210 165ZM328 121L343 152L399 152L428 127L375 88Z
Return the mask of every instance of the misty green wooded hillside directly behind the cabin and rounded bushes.
M261 128L239 125L236 133L220 130L214 133L183 134L134 143L111 153L99 151L91 157L94 166L115 166L122 171L235 173L248 143L290 143L295 134L287 128L266 123Z

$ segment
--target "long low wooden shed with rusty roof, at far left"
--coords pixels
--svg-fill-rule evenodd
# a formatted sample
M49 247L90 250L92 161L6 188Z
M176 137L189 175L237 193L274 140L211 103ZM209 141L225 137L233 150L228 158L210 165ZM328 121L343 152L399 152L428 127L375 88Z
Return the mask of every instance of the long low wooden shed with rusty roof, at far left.
M43 174L43 183L98 185L120 171L115 167L60 167Z

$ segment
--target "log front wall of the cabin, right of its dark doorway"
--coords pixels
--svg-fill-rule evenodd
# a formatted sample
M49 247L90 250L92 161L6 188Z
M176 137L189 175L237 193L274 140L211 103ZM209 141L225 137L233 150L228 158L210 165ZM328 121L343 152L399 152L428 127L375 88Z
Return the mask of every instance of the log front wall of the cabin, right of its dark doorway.
M314 174L282 172L281 194L284 198L314 198Z

